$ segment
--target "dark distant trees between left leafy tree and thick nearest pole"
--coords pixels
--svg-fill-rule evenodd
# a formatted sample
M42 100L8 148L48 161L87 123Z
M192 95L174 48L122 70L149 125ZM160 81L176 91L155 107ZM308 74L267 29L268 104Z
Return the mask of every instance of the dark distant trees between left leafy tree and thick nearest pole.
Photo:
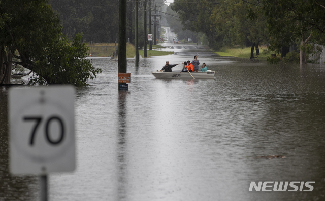
M63 35L83 33L87 42L115 42L118 38L118 1L50 0L61 17Z

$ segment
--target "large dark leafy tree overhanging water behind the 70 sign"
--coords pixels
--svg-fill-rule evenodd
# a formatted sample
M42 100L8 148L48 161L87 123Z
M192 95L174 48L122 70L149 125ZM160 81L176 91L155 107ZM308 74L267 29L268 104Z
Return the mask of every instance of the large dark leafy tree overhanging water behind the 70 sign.
M0 58L4 59L0 71L11 72L10 65L15 64L35 72L47 84L86 85L101 69L85 59L87 48L81 34L72 40L62 35L59 16L47 3L0 2ZM8 74L3 76L8 78Z

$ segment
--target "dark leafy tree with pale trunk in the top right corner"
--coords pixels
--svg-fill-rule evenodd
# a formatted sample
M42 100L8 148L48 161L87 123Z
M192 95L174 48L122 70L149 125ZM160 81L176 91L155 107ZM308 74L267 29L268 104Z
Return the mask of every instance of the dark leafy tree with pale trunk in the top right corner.
M270 32L270 49L281 51L283 46L300 44L300 63L306 64L307 44L313 35L325 30L325 7L315 0L262 0L256 15L266 18Z

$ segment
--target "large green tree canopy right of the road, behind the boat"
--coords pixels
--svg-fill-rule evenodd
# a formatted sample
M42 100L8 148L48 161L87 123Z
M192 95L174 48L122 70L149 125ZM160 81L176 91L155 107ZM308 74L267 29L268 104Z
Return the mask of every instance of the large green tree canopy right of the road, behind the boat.
M254 1L251 1L254 2ZM246 1L242 0L175 0L172 9L179 14L185 29L202 32L208 37L209 45L214 49L223 46L252 46L268 42L265 19L248 19Z

